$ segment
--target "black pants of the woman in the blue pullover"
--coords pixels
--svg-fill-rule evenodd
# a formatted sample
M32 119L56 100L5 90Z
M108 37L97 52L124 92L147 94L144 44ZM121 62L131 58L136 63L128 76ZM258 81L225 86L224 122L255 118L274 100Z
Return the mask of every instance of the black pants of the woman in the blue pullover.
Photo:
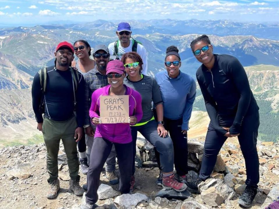
M173 140L174 150L174 166L176 173L180 176L188 173L188 138L187 133L182 134L182 118L177 120L170 120L164 118L164 127L169 132L170 138ZM160 165L160 154L155 149L157 163Z

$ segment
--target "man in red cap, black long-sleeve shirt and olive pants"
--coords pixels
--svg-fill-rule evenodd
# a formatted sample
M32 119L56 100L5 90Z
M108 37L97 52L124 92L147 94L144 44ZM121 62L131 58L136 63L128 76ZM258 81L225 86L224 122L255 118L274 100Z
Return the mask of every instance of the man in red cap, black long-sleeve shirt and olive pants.
M69 66L74 59L74 48L68 42L61 42L54 53L55 65L47 67L43 76L36 73L32 84L32 104L38 130L42 131L47 147L48 183L51 190L47 198L53 199L60 189L58 180L58 151L62 139L67 155L70 190L80 196L84 190L79 185L80 176L77 157L77 141L82 136L84 123L84 93L85 83L81 73L74 72ZM42 80L45 78L45 90ZM77 82L74 85L74 77ZM43 78L42 78L43 77ZM40 110L41 98L45 103L44 118ZM74 111L76 110L76 117Z

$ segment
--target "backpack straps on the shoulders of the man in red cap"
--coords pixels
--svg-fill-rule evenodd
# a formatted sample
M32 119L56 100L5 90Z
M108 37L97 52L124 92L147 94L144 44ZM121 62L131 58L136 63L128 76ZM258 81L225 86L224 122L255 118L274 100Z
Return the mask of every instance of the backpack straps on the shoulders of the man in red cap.
M39 71L42 95L45 95L46 86L47 86L47 69L48 69L47 67L44 67ZM72 67L70 67L70 71L72 73L73 91L74 91L74 111L75 111L77 105L75 92L77 91L77 87L79 84L79 72L77 70L74 70ZM41 113L45 113L45 96L41 98L39 108Z

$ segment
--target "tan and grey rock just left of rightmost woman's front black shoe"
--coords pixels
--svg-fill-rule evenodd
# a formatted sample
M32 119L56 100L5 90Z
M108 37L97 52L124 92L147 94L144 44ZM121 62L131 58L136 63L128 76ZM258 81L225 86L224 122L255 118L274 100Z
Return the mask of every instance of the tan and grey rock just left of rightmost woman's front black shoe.
M220 196L214 187L204 190L200 196L205 204L209 206L219 206L224 202L224 198Z

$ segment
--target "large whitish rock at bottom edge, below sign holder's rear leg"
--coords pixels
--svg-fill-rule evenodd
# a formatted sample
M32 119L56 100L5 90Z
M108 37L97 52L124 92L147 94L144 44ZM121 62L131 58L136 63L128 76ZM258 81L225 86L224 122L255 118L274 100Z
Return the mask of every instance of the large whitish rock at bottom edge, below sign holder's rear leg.
M131 206L136 206L141 201L147 201L148 197L144 194L135 193L135 194L121 194L116 197L114 200L115 205L128 208Z

